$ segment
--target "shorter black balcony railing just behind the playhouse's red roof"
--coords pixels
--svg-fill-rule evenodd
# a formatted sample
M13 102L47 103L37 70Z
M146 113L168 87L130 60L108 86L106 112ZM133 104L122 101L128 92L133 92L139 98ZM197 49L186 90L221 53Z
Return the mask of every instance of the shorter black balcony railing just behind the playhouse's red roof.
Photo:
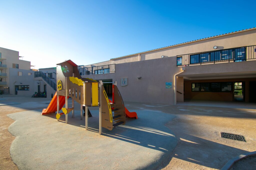
M88 68L80 68L80 75L91 75L91 74L105 74L105 73L114 73L115 64L108 64L104 66L94 66Z

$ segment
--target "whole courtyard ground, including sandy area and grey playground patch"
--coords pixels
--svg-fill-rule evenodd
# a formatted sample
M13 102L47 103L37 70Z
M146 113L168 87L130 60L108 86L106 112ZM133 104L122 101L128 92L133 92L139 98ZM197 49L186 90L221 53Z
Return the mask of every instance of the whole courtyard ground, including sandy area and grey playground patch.
M254 109L125 102L138 119L99 136L97 107L89 108L86 131L78 104L67 125L65 116L57 122L56 114L40 115L49 102L1 96L0 169L221 169L256 148ZM246 142L220 132L243 135Z

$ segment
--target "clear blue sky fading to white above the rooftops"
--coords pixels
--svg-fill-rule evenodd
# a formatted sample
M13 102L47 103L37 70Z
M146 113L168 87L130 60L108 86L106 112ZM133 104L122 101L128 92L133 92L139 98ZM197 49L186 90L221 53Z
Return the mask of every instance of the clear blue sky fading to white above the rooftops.
M0 0L0 6L0 47L19 51L35 68L67 59L93 64L256 27L256 1Z

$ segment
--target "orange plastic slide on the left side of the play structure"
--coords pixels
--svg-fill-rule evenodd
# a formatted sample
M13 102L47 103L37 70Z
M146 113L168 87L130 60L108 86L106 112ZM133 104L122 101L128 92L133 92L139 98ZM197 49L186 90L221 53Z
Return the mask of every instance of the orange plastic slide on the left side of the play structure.
M61 109L65 104L65 96L59 96L59 108ZM44 114L50 114L50 113L55 113L57 111L57 92L51 99L51 102L47 109L43 109L42 115Z

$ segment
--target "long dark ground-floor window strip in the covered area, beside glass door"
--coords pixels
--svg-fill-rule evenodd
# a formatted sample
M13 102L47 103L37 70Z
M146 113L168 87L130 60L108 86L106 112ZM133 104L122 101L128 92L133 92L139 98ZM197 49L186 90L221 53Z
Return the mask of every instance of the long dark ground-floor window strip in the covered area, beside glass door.
M232 82L192 83L192 91L230 92Z

